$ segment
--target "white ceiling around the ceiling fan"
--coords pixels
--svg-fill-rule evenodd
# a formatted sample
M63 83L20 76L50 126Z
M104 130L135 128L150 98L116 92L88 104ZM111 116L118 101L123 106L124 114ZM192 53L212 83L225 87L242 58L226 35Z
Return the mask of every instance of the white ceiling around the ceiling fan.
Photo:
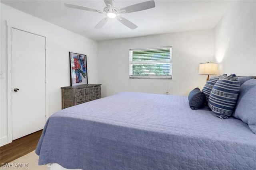
M114 0L113 6L120 9L140 2L145 1ZM231 3L231 1L214 0L156 0L155 2L155 8L120 14L138 26L132 30L116 19L111 19L102 28L96 29L94 26L105 17L104 14L64 6L64 3L71 3L103 10L105 7L103 0L1 0L3 4L95 41L213 28Z

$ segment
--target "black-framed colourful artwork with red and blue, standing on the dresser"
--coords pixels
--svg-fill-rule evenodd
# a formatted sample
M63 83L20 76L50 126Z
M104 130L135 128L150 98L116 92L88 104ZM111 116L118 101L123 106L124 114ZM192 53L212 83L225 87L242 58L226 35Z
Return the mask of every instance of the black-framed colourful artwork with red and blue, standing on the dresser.
M71 86L88 84L86 55L69 52Z

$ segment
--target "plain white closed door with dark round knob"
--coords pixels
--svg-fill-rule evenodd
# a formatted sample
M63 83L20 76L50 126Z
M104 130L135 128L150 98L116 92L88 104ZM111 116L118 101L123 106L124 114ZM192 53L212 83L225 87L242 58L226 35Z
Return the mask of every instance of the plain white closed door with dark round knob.
M43 129L45 37L12 28L12 140Z

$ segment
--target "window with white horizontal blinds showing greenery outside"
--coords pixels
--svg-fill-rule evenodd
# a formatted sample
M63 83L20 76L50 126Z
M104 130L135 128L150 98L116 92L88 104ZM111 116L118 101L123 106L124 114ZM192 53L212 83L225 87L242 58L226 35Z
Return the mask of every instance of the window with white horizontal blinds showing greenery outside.
M172 47L130 49L130 78L172 78Z

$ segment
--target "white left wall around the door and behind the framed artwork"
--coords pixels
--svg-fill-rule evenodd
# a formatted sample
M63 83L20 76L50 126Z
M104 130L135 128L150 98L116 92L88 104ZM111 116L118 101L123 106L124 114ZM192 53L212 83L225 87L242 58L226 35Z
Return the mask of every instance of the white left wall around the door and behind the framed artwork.
M1 4L1 145L7 136L7 26L6 20L19 29L46 36L49 115L61 109L62 86L70 86L69 51L87 55L88 82L98 83L97 43L44 20ZM78 25L79 26L79 25ZM29 51L28 51L29 52ZM34 73L36 76L36 73ZM33 79L33 77L31 77Z

